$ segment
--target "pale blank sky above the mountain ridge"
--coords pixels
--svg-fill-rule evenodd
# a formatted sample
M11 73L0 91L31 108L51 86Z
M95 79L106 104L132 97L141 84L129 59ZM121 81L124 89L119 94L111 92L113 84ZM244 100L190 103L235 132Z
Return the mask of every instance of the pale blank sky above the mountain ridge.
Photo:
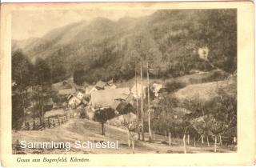
M122 17L138 18L154 10L18 10L12 13L12 39L40 38L54 28L72 22L103 17L118 20Z

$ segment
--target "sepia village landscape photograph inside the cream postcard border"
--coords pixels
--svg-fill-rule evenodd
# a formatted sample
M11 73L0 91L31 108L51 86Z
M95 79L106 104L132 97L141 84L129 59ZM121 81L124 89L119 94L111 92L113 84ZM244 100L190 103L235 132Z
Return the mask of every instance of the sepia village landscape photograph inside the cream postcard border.
M12 12L12 154L236 153L237 12Z

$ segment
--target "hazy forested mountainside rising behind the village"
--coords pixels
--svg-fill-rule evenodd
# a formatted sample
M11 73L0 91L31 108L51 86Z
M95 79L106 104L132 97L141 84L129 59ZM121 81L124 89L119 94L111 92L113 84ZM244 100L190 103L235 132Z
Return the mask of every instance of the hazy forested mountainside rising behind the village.
M31 62L44 59L52 82L72 75L78 83L133 78L141 57L150 60L150 78L211 70L210 64L233 73L236 25L236 10L158 10L116 22L107 18L76 22L42 38L13 41L12 46L14 53L20 49ZM198 57L202 47L209 49L209 61Z

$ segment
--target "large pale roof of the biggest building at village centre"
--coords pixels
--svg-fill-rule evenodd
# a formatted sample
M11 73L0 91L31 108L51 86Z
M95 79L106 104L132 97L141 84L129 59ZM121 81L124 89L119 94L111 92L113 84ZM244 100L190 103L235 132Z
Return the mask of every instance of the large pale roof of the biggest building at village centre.
M126 100L130 90L128 87L113 90L97 90L91 93L91 102L94 108L113 106L116 100Z

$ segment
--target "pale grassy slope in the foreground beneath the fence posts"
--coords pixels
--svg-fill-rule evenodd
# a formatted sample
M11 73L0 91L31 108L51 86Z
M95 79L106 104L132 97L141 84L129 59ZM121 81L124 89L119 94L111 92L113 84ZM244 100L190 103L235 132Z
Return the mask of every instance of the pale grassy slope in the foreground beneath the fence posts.
M147 135L146 135L147 137ZM168 144L168 139L162 135L156 135L154 142L142 142L135 137L134 153L151 153L151 154L166 154L166 153L183 153L182 140L178 138L171 139L171 146ZM128 147L126 130L106 125L106 135L101 134L101 125L98 122L92 122L87 119L72 118L62 126L46 130L33 131L13 131L13 153L14 154L133 154L131 147ZM146 138L147 140L147 138ZM74 146L75 141L87 142L116 142L118 141L118 149L84 149L71 148L70 151L65 149L21 149L18 142L71 142ZM187 145L187 153L209 153L214 152L214 145L207 146L196 142L190 142ZM232 152L222 146L218 147L218 152Z

